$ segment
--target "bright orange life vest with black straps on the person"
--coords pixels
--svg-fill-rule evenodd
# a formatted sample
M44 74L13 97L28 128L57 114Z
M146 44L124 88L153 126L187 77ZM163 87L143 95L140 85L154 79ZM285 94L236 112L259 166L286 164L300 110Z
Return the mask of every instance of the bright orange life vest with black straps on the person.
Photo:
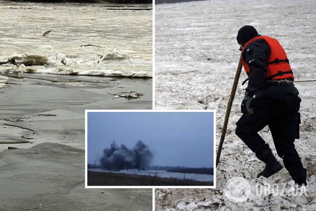
M246 46L251 42L257 39L264 39L270 48L270 57L267 61L267 75L265 81L269 80L281 80L281 79L291 79L294 80L293 72L291 66L289 64L289 60L286 56L286 53L278 42L278 40L273 39L268 36L257 36L249 40L242 49L243 51L246 49ZM247 75L250 72L250 68L248 64L242 59L241 63L243 65L244 70L246 71Z

